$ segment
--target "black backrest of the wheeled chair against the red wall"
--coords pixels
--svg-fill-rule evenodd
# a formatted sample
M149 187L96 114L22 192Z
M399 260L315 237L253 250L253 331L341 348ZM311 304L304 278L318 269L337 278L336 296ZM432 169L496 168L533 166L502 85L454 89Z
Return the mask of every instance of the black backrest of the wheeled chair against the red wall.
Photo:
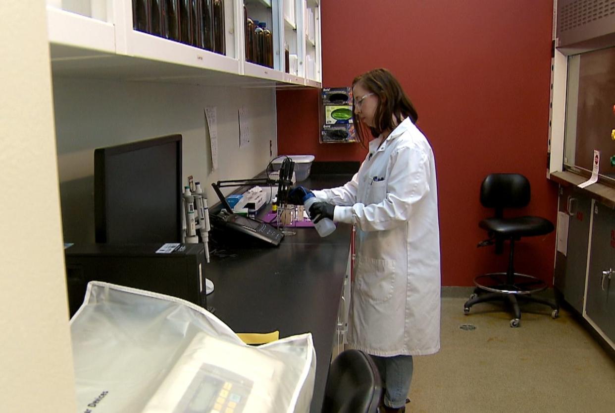
M521 174L491 174L480 186L480 203L496 210L502 217L504 208L521 208L530 203L530 181Z

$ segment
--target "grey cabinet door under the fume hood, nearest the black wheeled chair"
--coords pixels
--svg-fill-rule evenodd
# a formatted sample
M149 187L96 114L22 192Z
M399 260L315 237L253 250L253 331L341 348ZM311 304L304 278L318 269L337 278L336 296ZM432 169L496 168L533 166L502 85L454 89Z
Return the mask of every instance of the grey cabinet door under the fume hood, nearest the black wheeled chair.
M555 255L555 287L582 313L592 200L574 188L560 188L559 203L559 211L568 217L568 247L566 255L559 251Z

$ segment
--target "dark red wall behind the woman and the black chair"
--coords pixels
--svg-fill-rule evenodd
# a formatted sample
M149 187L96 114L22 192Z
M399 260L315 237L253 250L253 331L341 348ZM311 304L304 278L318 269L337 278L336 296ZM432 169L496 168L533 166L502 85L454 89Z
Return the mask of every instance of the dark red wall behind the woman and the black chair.
M530 179L533 214L555 222L546 179L552 0L322 1L323 87L349 86L384 67L402 83L430 140L438 173L442 284L470 286L506 269L507 255L477 249L478 200L491 172ZM317 161L361 161L358 144L320 144L318 92L277 93L278 150ZM523 239L516 270L551 282L555 233Z

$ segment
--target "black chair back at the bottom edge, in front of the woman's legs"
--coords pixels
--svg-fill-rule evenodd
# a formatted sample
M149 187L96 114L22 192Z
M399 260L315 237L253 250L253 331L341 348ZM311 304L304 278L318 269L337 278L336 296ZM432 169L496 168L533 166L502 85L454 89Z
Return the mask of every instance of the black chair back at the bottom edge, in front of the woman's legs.
M359 350L342 351L329 367L322 413L376 413L381 393L371 357Z

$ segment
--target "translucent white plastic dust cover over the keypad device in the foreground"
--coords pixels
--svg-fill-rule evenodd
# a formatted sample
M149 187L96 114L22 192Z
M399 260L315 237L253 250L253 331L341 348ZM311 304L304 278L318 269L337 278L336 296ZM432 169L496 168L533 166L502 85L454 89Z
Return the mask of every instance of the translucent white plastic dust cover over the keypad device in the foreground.
M250 346L185 300L92 281L71 334L79 413L309 411L309 333Z

